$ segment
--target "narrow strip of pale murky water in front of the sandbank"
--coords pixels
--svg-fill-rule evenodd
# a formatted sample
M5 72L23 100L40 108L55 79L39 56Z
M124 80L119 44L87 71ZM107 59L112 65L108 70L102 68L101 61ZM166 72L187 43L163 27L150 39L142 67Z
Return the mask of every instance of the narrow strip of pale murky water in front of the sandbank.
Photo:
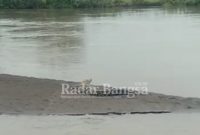
M199 114L124 116L0 116L2 135L191 135Z

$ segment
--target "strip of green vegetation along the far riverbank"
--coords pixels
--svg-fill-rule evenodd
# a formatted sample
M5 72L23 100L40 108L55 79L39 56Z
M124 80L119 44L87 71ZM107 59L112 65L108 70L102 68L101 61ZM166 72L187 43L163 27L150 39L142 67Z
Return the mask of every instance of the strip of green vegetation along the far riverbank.
M0 8L95 8L138 5L200 5L200 0L0 0Z

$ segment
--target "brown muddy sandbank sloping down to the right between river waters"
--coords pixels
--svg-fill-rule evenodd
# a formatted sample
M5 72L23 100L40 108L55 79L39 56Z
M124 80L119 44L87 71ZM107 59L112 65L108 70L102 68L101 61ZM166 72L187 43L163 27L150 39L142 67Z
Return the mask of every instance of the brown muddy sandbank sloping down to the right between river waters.
M123 114L200 112L200 99L156 93L135 98L61 98L62 83L50 79L0 75L1 114Z

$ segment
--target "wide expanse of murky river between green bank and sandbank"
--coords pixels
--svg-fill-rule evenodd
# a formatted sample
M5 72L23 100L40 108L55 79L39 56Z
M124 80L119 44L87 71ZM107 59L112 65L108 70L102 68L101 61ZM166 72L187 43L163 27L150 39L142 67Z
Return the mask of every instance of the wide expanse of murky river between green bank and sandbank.
M0 73L200 97L195 9L1 10Z

